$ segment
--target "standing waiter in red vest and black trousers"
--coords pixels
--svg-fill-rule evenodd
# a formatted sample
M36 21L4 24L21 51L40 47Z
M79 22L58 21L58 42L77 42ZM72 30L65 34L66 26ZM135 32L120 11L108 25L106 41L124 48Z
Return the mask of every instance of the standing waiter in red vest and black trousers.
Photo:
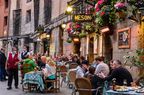
M15 88L18 89L18 50L16 47L12 48L12 52L8 54L7 59L7 70L8 70L8 88L7 90L12 89L13 78L15 80Z

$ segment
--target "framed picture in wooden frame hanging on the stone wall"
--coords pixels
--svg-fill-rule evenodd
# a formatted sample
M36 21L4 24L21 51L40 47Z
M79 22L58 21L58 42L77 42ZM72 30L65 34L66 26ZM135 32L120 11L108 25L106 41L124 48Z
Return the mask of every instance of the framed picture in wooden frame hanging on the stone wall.
M131 42L131 31L130 28L124 28L118 30L118 48L128 49L130 48Z

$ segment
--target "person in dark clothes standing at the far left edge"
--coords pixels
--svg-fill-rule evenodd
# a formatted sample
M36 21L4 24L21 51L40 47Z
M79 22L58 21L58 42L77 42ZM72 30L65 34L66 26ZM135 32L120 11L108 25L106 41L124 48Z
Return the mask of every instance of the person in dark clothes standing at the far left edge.
M6 80L6 70L5 70L6 56L4 52L5 52L4 49L1 48L0 50L0 81Z

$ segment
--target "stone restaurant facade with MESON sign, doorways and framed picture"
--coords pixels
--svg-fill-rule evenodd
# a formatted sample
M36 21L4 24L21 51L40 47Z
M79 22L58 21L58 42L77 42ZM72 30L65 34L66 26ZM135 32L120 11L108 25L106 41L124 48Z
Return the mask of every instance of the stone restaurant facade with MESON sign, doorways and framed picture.
M81 3L83 5L81 5ZM116 17L115 23L112 24L110 20L108 22L106 20L108 18L106 17L100 18L103 19L106 24L102 23L103 25L97 27L99 25L99 23L97 23L97 20L99 20L97 15L95 15L94 18L89 16L91 15L91 11L94 12L93 9L96 9L97 3L98 2L92 2L92 0L82 0L81 2L79 2L79 0L68 0L67 2L61 3L58 1L53 2L53 5L59 4L59 6L52 6L51 22L45 26L46 29L51 30L49 39L50 56L55 57L73 53L85 56L90 63L93 62L95 57L104 56L106 62L111 59L119 59L124 64L127 64L128 62L126 62L125 57L128 54L131 56L135 55L136 50L144 48L142 10L140 10L140 16L136 16L135 14L129 15L128 13L120 15L116 10L115 14L117 15L112 14L112 16ZM131 2L121 3L131 4ZM75 4L78 4L79 7ZM69 6L74 8L72 14L66 12ZM59 12L54 11L56 7L59 7ZM82 8L84 10L80 10ZM78 12L76 9L78 9ZM109 11L108 14L111 15ZM135 16L137 18L133 19L132 17ZM62 27L63 24L66 24L64 28ZM138 70L137 66L130 68L131 65L127 65L127 67L131 71L134 71L134 73ZM136 78L137 74L134 75Z

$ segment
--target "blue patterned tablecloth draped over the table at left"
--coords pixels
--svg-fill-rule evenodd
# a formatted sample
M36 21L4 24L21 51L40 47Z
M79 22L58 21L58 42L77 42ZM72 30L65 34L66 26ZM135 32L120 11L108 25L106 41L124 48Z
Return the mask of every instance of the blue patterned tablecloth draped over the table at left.
M39 72L30 72L24 75L23 84L37 84L40 91L44 90L44 82Z

